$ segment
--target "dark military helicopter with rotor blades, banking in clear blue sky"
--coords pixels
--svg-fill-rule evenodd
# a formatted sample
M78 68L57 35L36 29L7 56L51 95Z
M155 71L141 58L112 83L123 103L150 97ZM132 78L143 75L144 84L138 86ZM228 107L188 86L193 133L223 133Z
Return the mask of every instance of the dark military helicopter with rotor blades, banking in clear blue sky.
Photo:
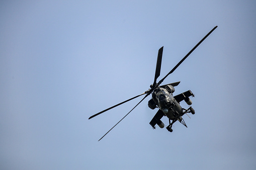
M157 124L160 128L164 127L163 122L160 120L163 116L166 116L169 119L169 125L166 127L166 129L169 132L173 132L172 126L173 124L178 120L181 122L184 126L187 127L184 119L182 116L187 113L195 114L195 110L192 107L189 107L188 109L182 108L180 105L180 102L185 100L185 102L188 105L192 104L192 101L189 97L194 97L194 94L188 90L184 93L178 94L176 96L173 96L173 93L175 92L175 86L178 86L180 82L170 83L166 85L160 86L160 84L163 82L163 80L170 74L172 74L180 65L181 63L217 28L218 26L214 27L166 76L164 76L158 83L156 82L156 79L160 76L160 70L161 70L161 61L162 61L162 51L163 47L161 47L158 50L157 55L157 62L156 62L156 68L155 68L155 77L153 84L150 85L150 89L145 91L144 93L137 95L133 98L130 98L126 101L123 101L119 104L116 104L110 108L107 108L97 114L94 114L93 116L89 117L89 119L102 114L110 109L113 109L114 107L117 107L123 103L126 103L130 100L133 100L139 96L145 95L145 97L137 104L135 105L119 122L121 122L135 107L137 107L147 96L152 94L152 98L148 101L148 107L150 109L158 108L158 111L152 118L152 120L149 122L149 124L155 129L155 125ZM187 114L188 115L188 114ZM189 115L188 115L189 116ZM172 122L171 122L172 120ZM117 124L119 123L117 122ZM117 125L116 124L116 125ZM115 126L116 126L115 125ZM113 126L106 134L108 134L115 126ZM105 135L106 135L105 134ZM104 136L105 136L104 135ZM102 136L98 141L100 141L104 136Z

